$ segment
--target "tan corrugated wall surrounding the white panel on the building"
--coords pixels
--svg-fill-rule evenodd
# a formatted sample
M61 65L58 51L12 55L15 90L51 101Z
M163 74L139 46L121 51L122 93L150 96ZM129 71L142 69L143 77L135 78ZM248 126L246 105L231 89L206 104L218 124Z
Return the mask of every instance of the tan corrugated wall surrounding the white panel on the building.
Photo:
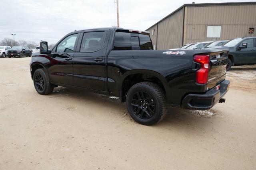
M221 26L220 38L207 38L207 26L214 25ZM187 6L184 43L256 36L249 27L256 29L256 5Z

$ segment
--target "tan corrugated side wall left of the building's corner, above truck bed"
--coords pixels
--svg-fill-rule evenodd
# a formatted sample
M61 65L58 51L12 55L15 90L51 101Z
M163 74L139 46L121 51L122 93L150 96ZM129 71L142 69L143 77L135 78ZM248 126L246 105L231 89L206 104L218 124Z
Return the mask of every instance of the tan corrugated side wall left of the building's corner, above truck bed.
M158 23L157 49L182 46L183 8Z

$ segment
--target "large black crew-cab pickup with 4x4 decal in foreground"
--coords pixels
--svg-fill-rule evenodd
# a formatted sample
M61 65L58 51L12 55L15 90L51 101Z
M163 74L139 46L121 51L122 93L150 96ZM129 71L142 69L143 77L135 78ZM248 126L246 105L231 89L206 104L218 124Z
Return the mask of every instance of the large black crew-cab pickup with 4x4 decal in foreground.
M52 49L40 43L30 73L39 94L65 86L115 96L138 123L152 125L168 106L210 109L228 91L228 51L152 50L149 32L122 28L74 31Z

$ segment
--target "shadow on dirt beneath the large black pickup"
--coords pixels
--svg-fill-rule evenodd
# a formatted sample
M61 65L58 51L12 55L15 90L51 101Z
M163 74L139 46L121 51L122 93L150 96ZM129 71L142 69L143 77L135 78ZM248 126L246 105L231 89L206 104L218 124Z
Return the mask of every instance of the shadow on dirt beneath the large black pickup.
M126 109L126 103L121 103L120 99L110 99L108 96L102 94L95 94L87 92L85 90L76 90L72 88L58 87L54 88L54 92L48 95L48 98L56 97L72 98L80 103L84 104L96 104L100 107L109 108L111 111L118 113L119 117L127 121L126 123L136 123L129 115ZM67 99L68 100L68 99ZM79 107L79 104L78 104ZM108 109L108 110L109 110ZM105 112L108 113L107 111ZM153 125L154 127L169 128L171 127L182 127L191 129L191 125L194 127L204 127L207 124L212 123L217 112L214 109L199 111L199 110L188 110L180 108L168 108L168 113L164 120ZM138 124L138 123L136 123ZM139 125L139 124L138 124ZM139 125L143 126L143 125Z

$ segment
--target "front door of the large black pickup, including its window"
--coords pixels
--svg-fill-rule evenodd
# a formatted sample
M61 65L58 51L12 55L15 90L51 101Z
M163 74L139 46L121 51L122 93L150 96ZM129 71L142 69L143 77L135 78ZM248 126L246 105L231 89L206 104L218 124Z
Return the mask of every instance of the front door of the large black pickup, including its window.
M73 80L73 55L80 33L68 35L52 49L49 54L50 66L48 74L50 81L59 84L74 86Z

